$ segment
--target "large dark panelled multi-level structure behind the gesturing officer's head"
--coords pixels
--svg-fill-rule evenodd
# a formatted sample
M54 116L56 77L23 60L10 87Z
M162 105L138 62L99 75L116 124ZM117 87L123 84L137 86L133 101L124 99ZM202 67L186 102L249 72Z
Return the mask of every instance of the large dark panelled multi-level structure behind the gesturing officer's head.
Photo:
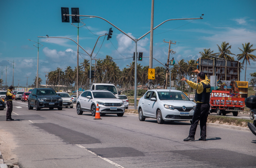
M217 76L217 80L240 81L240 62L214 59L197 59L197 68L204 72L208 77ZM215 69L216 68L216 73Z

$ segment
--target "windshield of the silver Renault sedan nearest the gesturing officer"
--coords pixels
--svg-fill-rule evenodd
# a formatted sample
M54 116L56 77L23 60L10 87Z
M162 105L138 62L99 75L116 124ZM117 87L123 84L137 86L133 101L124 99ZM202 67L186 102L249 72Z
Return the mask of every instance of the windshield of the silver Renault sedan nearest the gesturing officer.
M185 100L190 101L189 98L183 92L176 91L158 91L158 97L160 100Z

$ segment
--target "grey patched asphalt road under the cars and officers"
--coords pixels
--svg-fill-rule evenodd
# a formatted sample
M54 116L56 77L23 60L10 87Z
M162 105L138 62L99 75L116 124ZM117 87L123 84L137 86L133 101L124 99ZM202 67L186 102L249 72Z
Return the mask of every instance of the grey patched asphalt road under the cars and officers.
M256 136L251 132L207 127L207 141L184 142L190 124L138 116L77 115L76 109L28 110L14 101L12 118L0 127L15 139L14 153L24 168L40 167L255 167ZM1 150L1 149L0 149ZM4 157L4 155L3 155Z

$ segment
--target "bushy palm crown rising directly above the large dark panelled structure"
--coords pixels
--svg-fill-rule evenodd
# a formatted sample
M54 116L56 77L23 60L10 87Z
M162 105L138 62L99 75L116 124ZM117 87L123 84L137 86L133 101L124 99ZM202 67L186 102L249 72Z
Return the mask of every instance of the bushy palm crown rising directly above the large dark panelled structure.
M234 61L234 57L231 57L230 55L235 55L235 54L231 53L231 51L229 50L231 49L231 45L229 46L229 43L226 43L226 41L223 41L221 43L221 46L219 46L218 44L217 46L218 46L219 52L214 53L217 57Z

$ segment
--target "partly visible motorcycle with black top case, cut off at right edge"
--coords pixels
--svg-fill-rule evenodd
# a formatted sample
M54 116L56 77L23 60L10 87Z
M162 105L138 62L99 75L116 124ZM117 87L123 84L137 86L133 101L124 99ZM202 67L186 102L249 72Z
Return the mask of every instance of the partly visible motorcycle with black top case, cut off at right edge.
M245 99L245 106L252 110L253 118L255 119L253 123L248 122L247 126L251 130L251 132L256 136L256 96L250 96ZM250 114L250 118L252 119Z

